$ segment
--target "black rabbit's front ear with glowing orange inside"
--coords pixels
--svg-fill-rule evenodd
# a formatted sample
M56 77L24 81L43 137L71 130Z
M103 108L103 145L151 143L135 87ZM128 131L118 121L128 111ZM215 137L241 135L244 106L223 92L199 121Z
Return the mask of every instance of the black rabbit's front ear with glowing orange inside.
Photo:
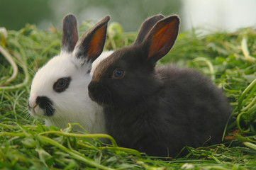
M174 45L178 32L178 16L169 16L158 21L144 40L148 51L148 60L157 62L164 57Z

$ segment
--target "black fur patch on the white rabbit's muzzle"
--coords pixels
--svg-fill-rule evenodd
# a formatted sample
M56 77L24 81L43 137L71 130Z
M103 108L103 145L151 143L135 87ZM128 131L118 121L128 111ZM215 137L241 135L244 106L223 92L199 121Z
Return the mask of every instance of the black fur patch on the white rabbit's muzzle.
M52 116L55 113L55 108L52 107L53 103L50 98L46 96L38 96L35 101L40 108L43 109L45 116Z

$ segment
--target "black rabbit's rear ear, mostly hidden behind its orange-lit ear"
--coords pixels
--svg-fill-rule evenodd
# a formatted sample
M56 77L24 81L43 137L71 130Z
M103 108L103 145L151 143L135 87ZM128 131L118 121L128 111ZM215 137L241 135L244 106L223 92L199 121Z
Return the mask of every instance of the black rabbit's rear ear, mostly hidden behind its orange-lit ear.
M148 34L148 32L150 32L151 28L155 26L155 23L160 21L162 18L165 18L165 16L158 14L146 19L140 27L140 32L138 33L134 44L140 44L143 42L145 36Z

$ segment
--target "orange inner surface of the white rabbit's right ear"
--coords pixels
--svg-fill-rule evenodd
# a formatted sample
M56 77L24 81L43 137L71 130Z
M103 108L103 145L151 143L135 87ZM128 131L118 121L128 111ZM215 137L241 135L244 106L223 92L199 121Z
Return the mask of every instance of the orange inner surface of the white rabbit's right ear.
M89 52L87 54L87 56L91 56L92 60L95 60L96 57L98 57L99 55L101 55L101 51L103 49L103 45L102 43L104 43L104 39L105 38L105 33L106 33L106 26L103 26L101 28L99 28L98 30L96 30L96 33L94 34L94 36L91 38L91 41L89 43Z

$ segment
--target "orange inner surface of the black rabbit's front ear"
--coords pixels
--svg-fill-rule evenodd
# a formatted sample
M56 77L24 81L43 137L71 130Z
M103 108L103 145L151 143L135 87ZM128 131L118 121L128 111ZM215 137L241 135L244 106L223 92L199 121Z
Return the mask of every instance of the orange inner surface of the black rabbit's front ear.
M157 54L157 60L169 52L177 38L178 23L174 20L168 24L159 23L157 30L153 33L149 49L148 59Z

